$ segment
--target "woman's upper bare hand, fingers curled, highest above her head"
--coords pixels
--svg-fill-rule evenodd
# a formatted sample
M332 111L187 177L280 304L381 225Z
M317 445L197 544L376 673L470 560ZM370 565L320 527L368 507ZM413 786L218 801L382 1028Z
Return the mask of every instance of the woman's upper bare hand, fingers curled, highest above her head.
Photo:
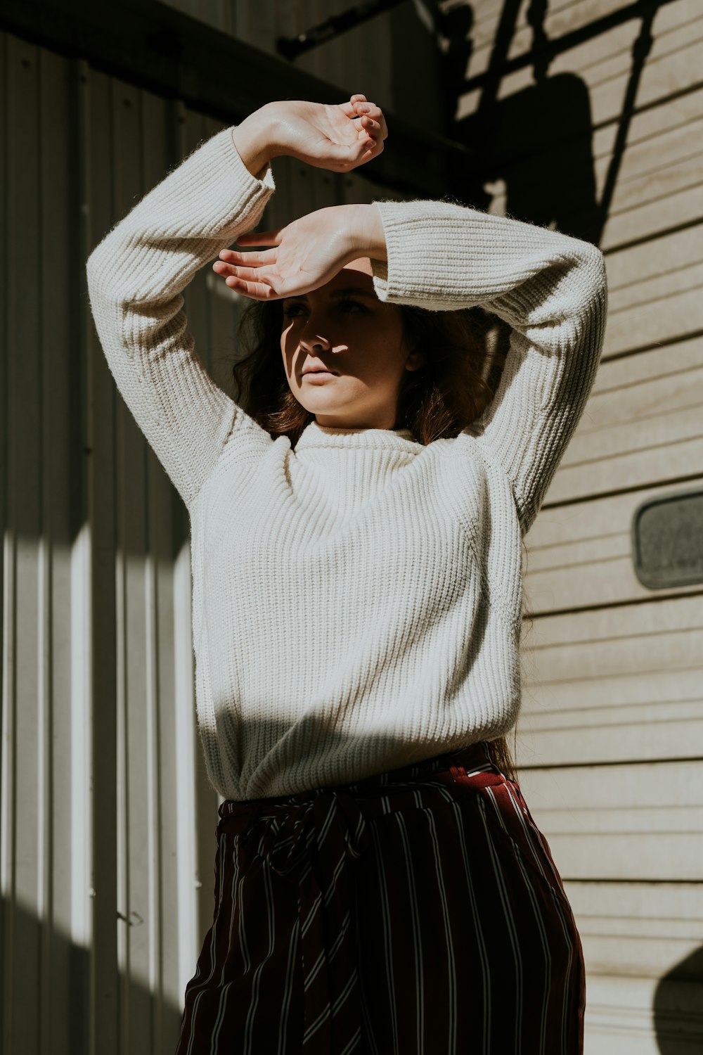
M380 108L365 95L352 95L349 102L338 104L301 99L267 102L234 131L235 141L241 139L250 150L258 137L256 146L269 158L288 155L331 172L350 172L371 161L388 137Z

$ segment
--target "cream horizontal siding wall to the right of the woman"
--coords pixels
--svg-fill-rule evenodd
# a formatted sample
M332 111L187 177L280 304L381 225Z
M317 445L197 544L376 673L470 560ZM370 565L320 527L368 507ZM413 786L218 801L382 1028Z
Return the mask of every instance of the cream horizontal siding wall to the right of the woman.
M455 134L490 92L473 80L490 63L506 72L489 113L509 115L535 83L533 63L516 61L534 26L573 35L546 76L587 90L605 208L584 236L590 220L609 316L593 394L527 539L518 753L584 942L586 1053L668 1055L703 1051L703 584L643 587L630 532L645 499L703 488L703 7L641 4L587 36L627 6L551 0L532 4L530 26L527 2L477 0ZM541 116L532 155L508 147L489 174L492 210L515 185L529 202L560 152L575 158L563 176L588 175L573 130L551 133ZM508 143L512 131L506 118ZM579 222L567 208L564 227Z

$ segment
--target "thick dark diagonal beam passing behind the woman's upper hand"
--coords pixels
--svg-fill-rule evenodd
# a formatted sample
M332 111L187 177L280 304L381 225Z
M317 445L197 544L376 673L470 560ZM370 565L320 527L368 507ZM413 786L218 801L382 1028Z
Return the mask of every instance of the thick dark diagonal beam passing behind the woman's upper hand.
M341 102L339 89L158 0L2 0L0 27L189 107L236 123L272 99ZM363 84L351 85L363 92ZM383 154L355 174L399 193L441 197L472 153L384 110Z

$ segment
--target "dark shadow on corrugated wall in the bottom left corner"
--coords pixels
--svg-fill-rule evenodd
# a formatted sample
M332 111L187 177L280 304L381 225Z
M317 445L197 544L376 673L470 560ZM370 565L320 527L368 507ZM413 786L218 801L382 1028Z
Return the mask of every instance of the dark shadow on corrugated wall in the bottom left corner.
M112 959L110 964L95 964L89 948L20 905L3 899L0 913L3 1052L172 1055L180 1031L179 1006L125 977ZM126 923L116 920L119 925ZM109 1020L104 1009L110 1009Z

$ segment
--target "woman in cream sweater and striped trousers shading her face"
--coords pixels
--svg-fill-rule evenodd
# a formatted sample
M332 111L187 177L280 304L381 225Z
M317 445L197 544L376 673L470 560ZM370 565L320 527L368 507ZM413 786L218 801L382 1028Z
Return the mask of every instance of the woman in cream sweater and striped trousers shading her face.
M592 384L603 260L447 202L246 234L272 157L348 171L386 136L362 95L269 103L89 261L117 385L190 513L198 722L224 799L178 1055L582 1050L577 928L495 761L520 706L521 540ZM180 310L217 253L265 313L239 371L251 413ZM511 327L491 401L450 347L472 307Z

